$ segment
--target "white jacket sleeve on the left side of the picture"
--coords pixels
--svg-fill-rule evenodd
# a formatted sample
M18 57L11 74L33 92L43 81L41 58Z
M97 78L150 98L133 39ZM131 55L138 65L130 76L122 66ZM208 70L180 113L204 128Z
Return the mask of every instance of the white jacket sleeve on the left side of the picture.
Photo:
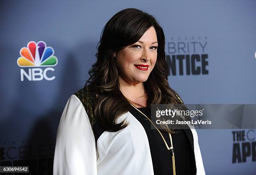
M97 175L95 137L82 102L72 95L61 115L54 175Z

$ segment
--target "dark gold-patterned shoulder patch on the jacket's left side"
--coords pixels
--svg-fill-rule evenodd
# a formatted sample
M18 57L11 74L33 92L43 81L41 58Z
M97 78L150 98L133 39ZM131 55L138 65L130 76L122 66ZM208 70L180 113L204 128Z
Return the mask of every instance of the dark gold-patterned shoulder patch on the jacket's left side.
M88 114L90 123L93 126L93 124L96 122L96 119L92 113L92 99L90 92L90 88L87 86L74 93L74 95L77 96L77 98L79 98L79 100L82 102L84 109Z

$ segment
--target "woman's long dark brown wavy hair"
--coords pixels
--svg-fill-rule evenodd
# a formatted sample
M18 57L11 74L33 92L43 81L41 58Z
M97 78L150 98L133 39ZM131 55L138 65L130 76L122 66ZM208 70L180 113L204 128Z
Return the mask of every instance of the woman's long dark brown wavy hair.
M121 10L102 30L95 55L97 61L92 65L89 71L90 78L85 84L91 94L88 113L93 115L97 123L106 131L116 132L125 128L128 123L126 121L117 123L117 119L133 108L120 91L118 68L113 53L136 43L151 26L156 30L158 48L154 69L143 83L147 94L147 108L151 111L151 104L182 103L168 83L165 37L156 18L135 8ZM163 127L163 130L172 132L166 127Z

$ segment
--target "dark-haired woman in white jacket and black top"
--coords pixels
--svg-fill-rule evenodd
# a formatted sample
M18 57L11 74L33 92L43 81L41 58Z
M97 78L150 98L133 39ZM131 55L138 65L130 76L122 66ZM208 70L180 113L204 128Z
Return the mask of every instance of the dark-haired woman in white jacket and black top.
M151 104L182 104L164 45L148 13L128 8L108 21L90 78L61 116L54 175L205 174L194 129L151 129Z

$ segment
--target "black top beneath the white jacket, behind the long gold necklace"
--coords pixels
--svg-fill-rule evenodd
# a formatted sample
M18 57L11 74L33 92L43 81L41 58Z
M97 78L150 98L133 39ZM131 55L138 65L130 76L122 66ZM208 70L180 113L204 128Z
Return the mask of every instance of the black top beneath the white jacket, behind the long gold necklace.
M151 118L150 113L148 112L148 109L146 107L138 109L143 112L143 114L145 114L148 118ZM167 150L164 140L162 139L157 129L151 129L151 122L135 108L131 109L129 112L133 114L134 117L136 117L136 119L142 124L146 131L154 168L154 174L172 175L172 152L171 150ZM192 145L189 142L187 134L185 133L186 131L184 131L183 129L177 129L176 131L178 133L172 134L176 174L194 175L196 174L196 170L194 162L195 155L193 149L191 149ZM161 133L163 134L167 145L170 147L171 141L169 138L169 134L164 131L161 131Z

